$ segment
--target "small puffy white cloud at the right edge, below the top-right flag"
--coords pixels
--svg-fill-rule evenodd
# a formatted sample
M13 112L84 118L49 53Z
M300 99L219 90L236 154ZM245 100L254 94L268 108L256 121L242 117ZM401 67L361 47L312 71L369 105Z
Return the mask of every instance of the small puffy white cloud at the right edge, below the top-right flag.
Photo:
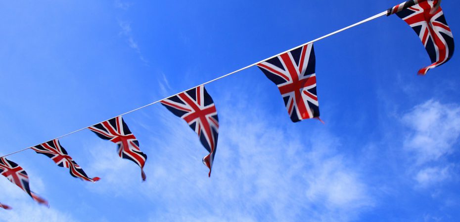
M449 179L453 165L445 157L454 151L460 137L460 107L429 100L415 106L402 119L410 129L404 148L414 156L414 180L418 186Z

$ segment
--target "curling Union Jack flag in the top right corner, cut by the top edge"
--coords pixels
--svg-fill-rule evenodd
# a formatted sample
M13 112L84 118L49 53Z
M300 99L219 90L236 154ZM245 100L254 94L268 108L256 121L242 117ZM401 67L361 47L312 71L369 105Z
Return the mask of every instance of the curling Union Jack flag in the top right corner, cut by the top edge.
M420 69L418 71L420 75L446 63L454 54L454 36L439 3L440 0L419 0L418 4L411 7L403 6L402 10L392 9L399 11L396 15L414 29L430 57L432 64Z

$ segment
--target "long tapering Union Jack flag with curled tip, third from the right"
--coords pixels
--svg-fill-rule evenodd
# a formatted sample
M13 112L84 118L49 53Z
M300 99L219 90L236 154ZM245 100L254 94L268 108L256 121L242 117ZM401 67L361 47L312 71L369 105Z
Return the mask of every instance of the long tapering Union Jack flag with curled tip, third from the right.
M203 163L209 168L208 176L211 177L219 135L219 118L211 96L201 85L165 99L161 104L176 116L183 118L198 134L201 144L209 152L203 158Z

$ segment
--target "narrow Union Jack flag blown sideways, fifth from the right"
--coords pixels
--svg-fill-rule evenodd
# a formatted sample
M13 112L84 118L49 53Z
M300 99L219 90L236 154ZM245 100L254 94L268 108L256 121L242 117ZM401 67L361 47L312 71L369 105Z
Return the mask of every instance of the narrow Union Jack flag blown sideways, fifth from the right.
M37 153L41 153L51 158L58 166L69 168L70 175L80 178L84 181L96 182L100 178L89 178L85 171L67 154L67 151L61 146L59 140L51 140L32 148Z

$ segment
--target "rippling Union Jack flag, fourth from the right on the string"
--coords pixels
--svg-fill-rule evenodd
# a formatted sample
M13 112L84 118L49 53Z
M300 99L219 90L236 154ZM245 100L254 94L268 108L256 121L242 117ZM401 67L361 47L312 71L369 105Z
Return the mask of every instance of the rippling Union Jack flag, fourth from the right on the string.
M99 138L116 143L118 145L118 155L138 164L142 181L145 181L146 176L143 168L145 160L147 160L147 155L140 151L138 140L131 133L128 125L126 125L121 116L98 123L88 127L88 129L94 132Z

